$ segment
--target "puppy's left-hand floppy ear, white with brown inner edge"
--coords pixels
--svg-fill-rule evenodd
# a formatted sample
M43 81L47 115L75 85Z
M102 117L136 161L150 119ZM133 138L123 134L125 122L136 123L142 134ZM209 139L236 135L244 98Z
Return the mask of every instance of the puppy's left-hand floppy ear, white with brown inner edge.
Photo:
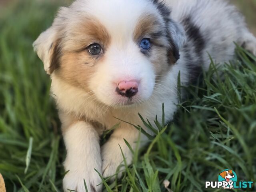
M54 26L42 32L33 43L34 51L44 62L44 70L52 74L60 66L61 46L58 32Z

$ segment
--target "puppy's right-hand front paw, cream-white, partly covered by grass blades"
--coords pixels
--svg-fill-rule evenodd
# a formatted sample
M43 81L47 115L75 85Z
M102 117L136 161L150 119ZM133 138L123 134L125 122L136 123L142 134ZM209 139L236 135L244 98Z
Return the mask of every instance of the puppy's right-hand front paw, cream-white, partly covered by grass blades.
M114 140L108 141L101 149L101 156L102 156L102 174L103 177L109 177L116 174L116 171L120 164L120 168L118 169L118 178L122 176L122 171L124 170L124 158L122 156L119 143ZM123 147L122 147L123 146ZM127 146L122 145L122 151L126 158L127 164L131 164L132 162L132 153Z

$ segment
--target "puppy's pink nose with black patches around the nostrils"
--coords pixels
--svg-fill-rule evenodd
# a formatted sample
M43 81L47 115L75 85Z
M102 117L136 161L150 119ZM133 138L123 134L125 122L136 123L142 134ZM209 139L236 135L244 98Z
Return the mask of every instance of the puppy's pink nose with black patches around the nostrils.
M121 81L116 87L116 92L122 96L131 98L138 92L138 82L137 81Z

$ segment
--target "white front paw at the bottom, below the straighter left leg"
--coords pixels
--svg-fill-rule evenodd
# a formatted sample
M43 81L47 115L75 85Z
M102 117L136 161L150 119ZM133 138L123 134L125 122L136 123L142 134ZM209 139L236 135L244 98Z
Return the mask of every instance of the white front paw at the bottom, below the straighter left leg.
M94 171L95 172L95 171ZM65 192L70 192L70 190L75 190L77 192L85 192L84 180L88 192L100 192L102 186L97 186L102 182L97 172L81 174L79 172L68 172L63 179L63 188Z

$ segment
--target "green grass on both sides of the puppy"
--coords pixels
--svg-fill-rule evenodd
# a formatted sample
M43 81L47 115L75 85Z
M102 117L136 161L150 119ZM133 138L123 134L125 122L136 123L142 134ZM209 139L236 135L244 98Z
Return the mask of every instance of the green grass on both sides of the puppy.
M58 4L31 2L0 17L0 172L8 192L62 191L60 123L50 79L32 50ZM186 88L190 97L174 122L159 122L157 136L134 151L122 179L104 182L104 191L167 191L164 180L175 192L206 191L204 182L226 168L238 180L256 181L256 58L241 48L237 55L221 68L212 64L200 88Z

